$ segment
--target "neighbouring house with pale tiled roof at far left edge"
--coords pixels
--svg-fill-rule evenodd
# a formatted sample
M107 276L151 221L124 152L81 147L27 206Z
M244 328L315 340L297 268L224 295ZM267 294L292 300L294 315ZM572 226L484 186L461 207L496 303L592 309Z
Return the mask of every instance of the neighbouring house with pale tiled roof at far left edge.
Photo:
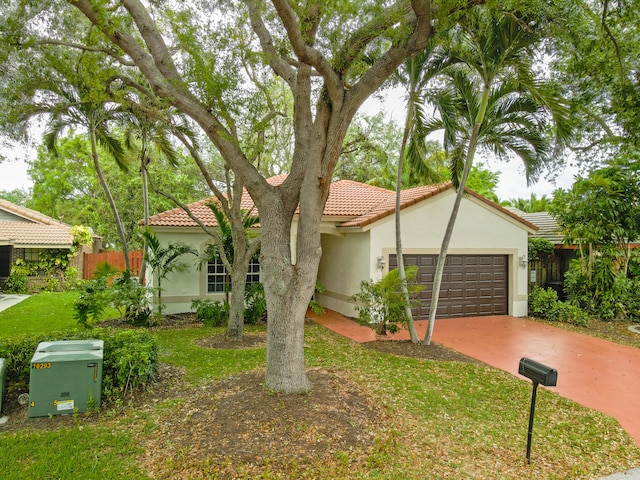
M70 229L71 225L0 199L0 287L18 259L37 263L43 250L72 248ZM82 272L82 255L75 262Z

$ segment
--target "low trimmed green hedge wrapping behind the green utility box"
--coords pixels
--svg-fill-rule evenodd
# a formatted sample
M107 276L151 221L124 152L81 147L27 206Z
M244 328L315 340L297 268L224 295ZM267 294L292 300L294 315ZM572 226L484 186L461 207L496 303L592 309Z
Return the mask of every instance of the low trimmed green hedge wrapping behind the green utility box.
M7 359L7 382L25 390L30 362L41 342L97 339L104 342L102 398L116 400L153 382L158 371L158 344L145 331L96 328L90 332L32 335L0 342L0 357Z

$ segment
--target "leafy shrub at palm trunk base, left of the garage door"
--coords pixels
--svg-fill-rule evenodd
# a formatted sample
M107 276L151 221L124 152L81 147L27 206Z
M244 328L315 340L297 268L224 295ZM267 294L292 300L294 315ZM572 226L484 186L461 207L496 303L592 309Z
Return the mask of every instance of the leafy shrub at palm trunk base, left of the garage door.
M418 267L409 265L406 268L406 281L409 295L415 301L415 295L424 289L416 283ZM405 302L400 291L398 270L393 269L378 281L363 281L360 292L353 295L356 302L358 320L361 324L375 328L379 335L387 331L398 331L398 324L406 324Z

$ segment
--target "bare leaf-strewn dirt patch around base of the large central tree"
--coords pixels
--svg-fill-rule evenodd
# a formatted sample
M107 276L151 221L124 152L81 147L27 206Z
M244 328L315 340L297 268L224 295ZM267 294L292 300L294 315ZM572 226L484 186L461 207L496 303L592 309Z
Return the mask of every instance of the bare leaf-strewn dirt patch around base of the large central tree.
M191 391L146 437L148 474L183 478L215 471L219 478L236 478L238 467L249 473L322 461L371 445L384 420L343 374L312 369L313 389L298 395L266 391L263 375L249 372Z

